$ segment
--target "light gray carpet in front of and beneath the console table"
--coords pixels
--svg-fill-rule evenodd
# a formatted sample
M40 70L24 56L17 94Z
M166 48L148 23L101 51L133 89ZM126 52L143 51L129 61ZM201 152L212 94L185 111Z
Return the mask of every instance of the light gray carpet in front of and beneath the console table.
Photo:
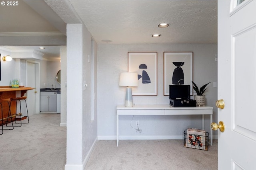
M85 170L217 170L217 140L208 151L183 140L98 141Z

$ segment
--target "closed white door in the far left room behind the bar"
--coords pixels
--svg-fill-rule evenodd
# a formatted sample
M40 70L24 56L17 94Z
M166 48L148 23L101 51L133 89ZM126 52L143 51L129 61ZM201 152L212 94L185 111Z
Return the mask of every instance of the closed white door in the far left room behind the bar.
M27 86L35 88L34 90L27 91L27 104L28 104L28 113L30 115L39 113L39 102L38 95L40 94L40 89L38 88L37 76L38 72L38 64L33 62L27 62Z

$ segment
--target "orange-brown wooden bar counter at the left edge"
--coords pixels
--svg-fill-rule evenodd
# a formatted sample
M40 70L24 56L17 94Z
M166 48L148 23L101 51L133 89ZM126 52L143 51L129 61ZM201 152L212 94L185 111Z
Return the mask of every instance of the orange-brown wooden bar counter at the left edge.
M16 98L22 97L28 90L34 88L19 86L19 88L11 88L10 86L0 86L0 99ZM16 94L17 93L17 94ZM19 95L20 94L20 95ZM6 120L8 117L9 106L7 103L3 104L3 118ZM0 119L2 119L2 113L0 109ZM11 113L14 115L16 113L16 102L12 102ZM0 121L2 125L2 121Z

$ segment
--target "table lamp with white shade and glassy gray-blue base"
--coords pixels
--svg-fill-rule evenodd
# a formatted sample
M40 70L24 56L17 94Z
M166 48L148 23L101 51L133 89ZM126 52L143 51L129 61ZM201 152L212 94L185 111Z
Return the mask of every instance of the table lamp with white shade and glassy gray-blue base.
M132 107L132 88L131 86L138 86L138 74L136 72L121 72L119 86L126 87L125 106Z

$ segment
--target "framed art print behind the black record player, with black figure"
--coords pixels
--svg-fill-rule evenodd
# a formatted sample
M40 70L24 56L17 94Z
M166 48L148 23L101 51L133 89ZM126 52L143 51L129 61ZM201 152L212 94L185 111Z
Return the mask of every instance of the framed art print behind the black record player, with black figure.
M169 85L190 85L193 95L193 52L164 52L164 96Z

